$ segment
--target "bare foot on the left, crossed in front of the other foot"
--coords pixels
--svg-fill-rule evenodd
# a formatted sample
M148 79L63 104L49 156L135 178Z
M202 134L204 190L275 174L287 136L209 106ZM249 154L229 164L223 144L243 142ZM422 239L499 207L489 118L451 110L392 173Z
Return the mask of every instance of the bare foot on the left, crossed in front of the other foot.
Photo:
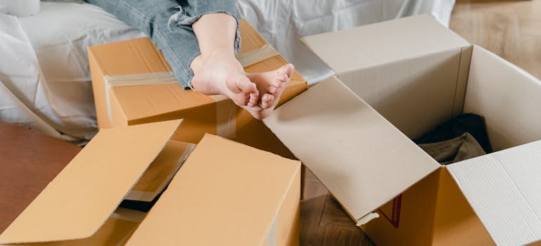
M216 50L209 56L197 56L190 65L194 72L192 86L204 95L222 94L243 108L259 101L256 84L250 82L232 51Z

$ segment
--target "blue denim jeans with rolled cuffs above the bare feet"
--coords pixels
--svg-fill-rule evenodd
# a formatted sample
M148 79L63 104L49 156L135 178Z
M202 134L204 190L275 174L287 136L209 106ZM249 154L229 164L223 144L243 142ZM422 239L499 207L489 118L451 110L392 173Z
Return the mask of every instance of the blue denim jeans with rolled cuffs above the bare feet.
M207 13L227 13L237 20L235 0L86 0L140 29L164 54L178 83L193 89L192 60L201 54L192 24ZM235 52L240 50L237 20Z

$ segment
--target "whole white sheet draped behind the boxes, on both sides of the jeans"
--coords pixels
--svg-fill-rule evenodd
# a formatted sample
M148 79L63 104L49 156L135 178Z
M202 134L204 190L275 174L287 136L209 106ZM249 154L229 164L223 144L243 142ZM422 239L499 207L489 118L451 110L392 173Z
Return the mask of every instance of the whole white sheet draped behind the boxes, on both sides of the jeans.
M4 1L4 0L0 0ZM448 24L454 0L238 0L247 18L313 84L332 70L298 39L431 13ZM86 47L144 34L91 4L41 3L27 18L0 13L0 120L67 141L96 134Z

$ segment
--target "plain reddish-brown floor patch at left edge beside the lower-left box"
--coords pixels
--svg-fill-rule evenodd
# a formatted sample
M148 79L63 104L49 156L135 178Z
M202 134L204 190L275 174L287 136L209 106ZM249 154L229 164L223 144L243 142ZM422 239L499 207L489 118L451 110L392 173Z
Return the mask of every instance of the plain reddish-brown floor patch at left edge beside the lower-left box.
M76 145L0 122L0 233L79 150Z

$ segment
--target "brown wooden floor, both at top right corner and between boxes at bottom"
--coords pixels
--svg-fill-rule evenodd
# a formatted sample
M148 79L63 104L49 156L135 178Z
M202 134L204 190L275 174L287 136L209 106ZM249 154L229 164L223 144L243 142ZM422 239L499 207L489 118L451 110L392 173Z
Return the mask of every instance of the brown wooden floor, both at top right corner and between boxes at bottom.
M541 0L457 0L450 28L541 78ZM301 245L373 245L306 171Z

